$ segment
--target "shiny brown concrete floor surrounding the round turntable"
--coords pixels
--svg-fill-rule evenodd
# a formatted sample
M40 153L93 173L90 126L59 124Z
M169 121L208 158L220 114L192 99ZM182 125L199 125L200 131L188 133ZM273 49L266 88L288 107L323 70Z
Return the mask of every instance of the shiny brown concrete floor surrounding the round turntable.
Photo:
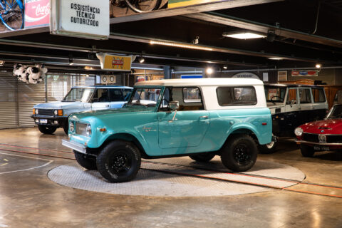
M342 199L338 197L284 190L224 197L88 192L58 185L47 177L49 170L73 160L13 152L37 150L9 146L70 151L60 145L66 138L63 134L61 129L55 135L42 135L37 128L0 130L0 227L342 227ZM259 155L258 160L296 167L305 173L305 182L342 187L341 157L338 152L302 157L298 146L286 140L279 143L276 153ZM334 191L342 195L341 190Z

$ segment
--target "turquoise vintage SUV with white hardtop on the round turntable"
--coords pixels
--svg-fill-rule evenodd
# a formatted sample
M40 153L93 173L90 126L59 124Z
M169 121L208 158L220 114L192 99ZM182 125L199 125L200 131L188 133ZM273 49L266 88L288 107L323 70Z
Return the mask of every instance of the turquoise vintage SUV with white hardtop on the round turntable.
M140 82L123 108L74 113L68 123L62 144L109 182L132 180L141 158L219 155L229 170L247 171L272 135L264 85L245 78Z

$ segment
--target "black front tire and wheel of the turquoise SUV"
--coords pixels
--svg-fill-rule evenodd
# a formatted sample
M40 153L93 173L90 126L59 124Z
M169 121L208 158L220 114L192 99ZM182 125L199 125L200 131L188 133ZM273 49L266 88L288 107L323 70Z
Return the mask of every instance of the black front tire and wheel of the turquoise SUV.
M98 172L109 182L133 180L140 165L141 155L138 147L123 140L109 142L96 158Z

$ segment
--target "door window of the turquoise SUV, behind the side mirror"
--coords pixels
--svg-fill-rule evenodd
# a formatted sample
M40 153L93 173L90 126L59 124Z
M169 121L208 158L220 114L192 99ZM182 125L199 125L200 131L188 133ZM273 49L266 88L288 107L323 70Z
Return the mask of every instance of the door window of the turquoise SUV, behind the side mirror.
M180 108L177 111L203 110L202 95L199 88L165 88L160 111L168 111L167 104L170 101L178 101Z

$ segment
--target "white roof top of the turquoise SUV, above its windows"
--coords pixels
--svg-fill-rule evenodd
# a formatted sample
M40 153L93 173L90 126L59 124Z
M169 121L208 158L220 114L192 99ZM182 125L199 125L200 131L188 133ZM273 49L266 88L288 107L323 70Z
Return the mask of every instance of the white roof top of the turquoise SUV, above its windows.
M254 78L191 78L152 80L135 83L135 86L260 86L264 83Z

